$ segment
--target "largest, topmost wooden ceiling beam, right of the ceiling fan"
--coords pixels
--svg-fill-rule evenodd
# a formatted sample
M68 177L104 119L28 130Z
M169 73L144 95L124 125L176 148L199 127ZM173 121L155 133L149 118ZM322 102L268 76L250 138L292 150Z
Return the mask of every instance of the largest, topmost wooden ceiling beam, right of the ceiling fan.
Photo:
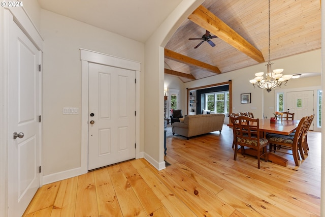
M189 15L188 19L245 53L258 63L265 62L261 51L257 50L253 45L236 33L234 29L225 24L205 7L199 6Z

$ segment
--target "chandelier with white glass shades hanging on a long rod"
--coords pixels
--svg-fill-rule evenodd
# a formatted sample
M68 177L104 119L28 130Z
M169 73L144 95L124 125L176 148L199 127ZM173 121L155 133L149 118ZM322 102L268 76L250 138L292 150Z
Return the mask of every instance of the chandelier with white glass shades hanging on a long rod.
M275 69L272 72L272 65L273 63L270 62L270 0L269 0L269 61L266 64L267 66L267 73L266 78L264 79L263 75L264 72L255 73L255 78L249 80L251 84L253 84L255 88L255 84L257 87L261 89L265 89L266 91L270 92L272 89L281 86L282 82L286 85L286 82L293 77L293 75L282 75L283 69Z

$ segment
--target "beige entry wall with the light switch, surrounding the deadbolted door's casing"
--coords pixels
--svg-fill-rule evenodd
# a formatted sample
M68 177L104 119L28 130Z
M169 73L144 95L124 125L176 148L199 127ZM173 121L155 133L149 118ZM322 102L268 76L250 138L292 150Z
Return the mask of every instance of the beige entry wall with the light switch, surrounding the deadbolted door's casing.
M43 174L49 175L81 166L79 48L139 61L144 80L144 44L43 9L40 25L44 38ZM143 93L143 82L140 85ZM140 101L143 110L143 97ZM63 115L63 107L78 107L79 114ZM143 136L140 140L143 144Z

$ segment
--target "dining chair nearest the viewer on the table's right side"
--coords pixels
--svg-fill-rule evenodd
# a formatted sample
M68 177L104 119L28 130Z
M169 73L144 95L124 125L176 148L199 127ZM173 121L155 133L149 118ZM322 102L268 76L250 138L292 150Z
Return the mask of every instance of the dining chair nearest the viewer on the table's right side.
M269 133L266 135L266 138L269 141L270 144L270 150L272 150L272 145L280 145L285 146L289 149L292 150L295 164L296 166L299 166L300 163L300 157L298 153L298 143L299 143L299 138L303 133L304 127L306 125L308 116L301 118L299 121L296 133L294 135L280 135L280 134L275 134L275 133ZM274 149L275 151L275 149Z

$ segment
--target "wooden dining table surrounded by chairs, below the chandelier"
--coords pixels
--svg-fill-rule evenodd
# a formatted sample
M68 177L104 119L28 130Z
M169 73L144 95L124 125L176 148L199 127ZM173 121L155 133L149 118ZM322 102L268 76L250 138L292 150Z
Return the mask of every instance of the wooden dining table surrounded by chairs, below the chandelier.
M268 133L275 133L275 134L281 134L281 135L290 135L290 133L293 133L299 124L300 120L275 120L275 122L271 122L270 118L262 118L258 119L259 123L259 131L262 132L262 135L264 138L266 138L266 135ZM229 123L229 127L232 127L232 124ZM256 156L256 150L254 149L242 149L242 153L249 154L252 156ZM272 163L281 165L286 167L288 165L288 160L277 155L274 152L268 151L268 161L271 161Z

